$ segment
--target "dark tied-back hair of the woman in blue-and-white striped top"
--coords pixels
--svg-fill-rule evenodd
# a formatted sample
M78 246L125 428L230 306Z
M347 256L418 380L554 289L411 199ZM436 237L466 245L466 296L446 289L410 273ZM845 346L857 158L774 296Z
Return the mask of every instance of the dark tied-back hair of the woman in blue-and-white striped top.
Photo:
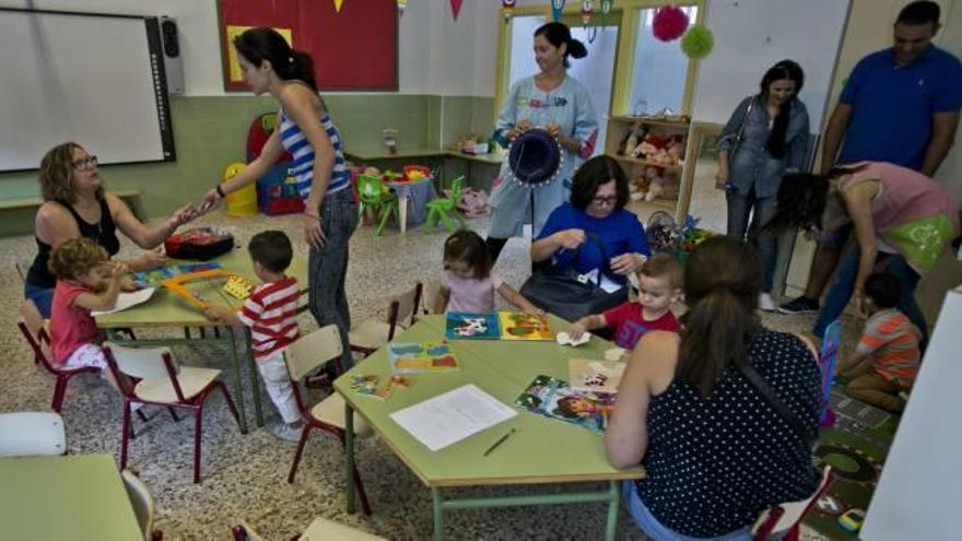
M303 50L292 49L273 28L250 28L234 38L237 52L254 66L267 60L284 81L298 80L317 92L314 60Z

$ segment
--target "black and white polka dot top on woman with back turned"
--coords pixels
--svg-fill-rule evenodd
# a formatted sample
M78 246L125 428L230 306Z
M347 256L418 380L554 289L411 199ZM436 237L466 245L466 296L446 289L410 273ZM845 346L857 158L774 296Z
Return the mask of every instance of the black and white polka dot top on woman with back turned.
M763 331L749 363L814 432L821 375L805 343ZM658 521L685 536L744 528L774 504L808 497L819 482L809 449L734 367L708 399L691 384L672 381L652 400L648 437L638 494Z

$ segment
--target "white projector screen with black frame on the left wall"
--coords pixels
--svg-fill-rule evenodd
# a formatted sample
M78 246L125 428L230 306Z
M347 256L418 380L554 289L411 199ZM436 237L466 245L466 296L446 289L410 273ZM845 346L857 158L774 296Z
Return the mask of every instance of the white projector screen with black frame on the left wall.
M102 164L173 161L157 20L0 9L0 170L75 141Z

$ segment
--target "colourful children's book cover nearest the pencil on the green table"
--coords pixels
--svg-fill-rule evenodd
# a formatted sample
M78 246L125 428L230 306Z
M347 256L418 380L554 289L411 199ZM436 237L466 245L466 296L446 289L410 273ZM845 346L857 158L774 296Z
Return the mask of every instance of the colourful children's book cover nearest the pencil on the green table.
M536 377L515 400L515 407L605 434L614 397L611 393L574 390L567 381L542 375Z

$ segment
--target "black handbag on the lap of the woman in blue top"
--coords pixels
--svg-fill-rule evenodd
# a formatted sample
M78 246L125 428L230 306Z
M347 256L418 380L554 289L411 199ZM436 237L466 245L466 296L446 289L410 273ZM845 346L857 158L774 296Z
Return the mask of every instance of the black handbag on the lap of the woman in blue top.
M610 270L610 264L605 247L597 236L589 235L588 238L598 243L605 261L603 269L598 269L598 279L595 282L584 279L574 269L549 268L531 274L521 285L521 295L544 311L572 322L626 303L627 285L612 293L601 289L601 275L606 269Z

